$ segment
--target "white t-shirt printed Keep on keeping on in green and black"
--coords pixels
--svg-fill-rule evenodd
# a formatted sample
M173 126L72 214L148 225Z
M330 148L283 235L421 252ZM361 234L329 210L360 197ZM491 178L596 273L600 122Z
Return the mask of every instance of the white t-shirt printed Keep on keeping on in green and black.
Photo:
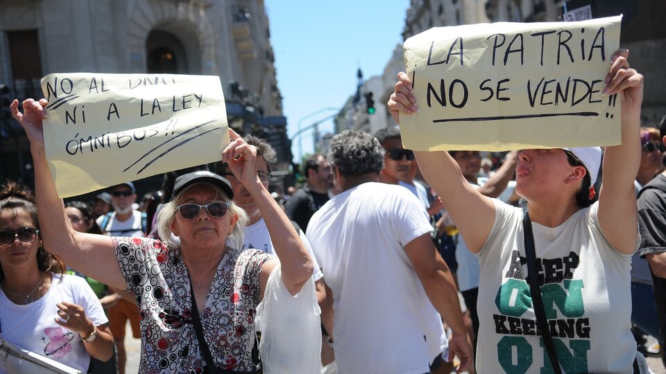
M499 200L495 208L495 225L477 254L477 371L552 373L525 281L522 209ZM631 255L610 246L597 209L592 204L554 228L532 223L546 319L564 373L631 373ZM637 249L639 243L637 237Z

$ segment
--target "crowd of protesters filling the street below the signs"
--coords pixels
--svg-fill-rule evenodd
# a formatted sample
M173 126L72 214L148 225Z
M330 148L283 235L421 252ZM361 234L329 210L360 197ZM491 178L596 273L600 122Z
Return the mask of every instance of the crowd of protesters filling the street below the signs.
M35 192L0 190L1 337L125 373L130 321L140 373L256 373L257 306L279 265L293 297L314 284L321 373L648 373L636 337L663 357L666 333L666 116L640 127L627 57L613 55L605 81L622 144L604 152L493 163L405 149L398 127L345 130L284 196L269 193L271 145L229 130L219 162L167 173L140 204L132 181L65 204L46 100L15 100ZM406 74L387 106L395 121L418 111Z

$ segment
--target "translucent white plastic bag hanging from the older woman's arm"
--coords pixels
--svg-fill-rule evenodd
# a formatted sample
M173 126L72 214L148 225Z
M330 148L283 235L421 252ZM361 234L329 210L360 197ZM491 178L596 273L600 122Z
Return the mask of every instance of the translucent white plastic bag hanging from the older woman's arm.
M268 277L264 299L257 306L259 354L264 374L315 374L321 371L321 309L310 278L291 296L282 283L280 265Z

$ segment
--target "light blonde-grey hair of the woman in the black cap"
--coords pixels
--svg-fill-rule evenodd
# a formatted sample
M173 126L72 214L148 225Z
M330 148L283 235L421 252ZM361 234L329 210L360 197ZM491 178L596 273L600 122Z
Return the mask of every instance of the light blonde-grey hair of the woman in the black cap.
M245 213L245 210L243 208L234 204L233 200L230 199L228 195L224 193L224 191L221 188L210 183L205 183L205 184L211 186L212 188L215 188L218 197L221 197L221 199L224 202L229 204L227 214L234 214L238 216L238 222L236 222L236 226L234 226L233 231L229 234L227 238L228 247L231 248L243 247L243 240L244 240L243 231L245 230L245 226L247 226L249 222L247 213ZM184 195L185 191L189 190L189 188L196 185L197 184L193 184L185 188L185 190L182 190L182 192L179 193L177 196L173 197L173 199L171 199L170 202L164 204L164 207L162 208L162 210L160 210L160 213L157 214L157 233L160 234L160 238L162 239L162 241L167 242L169 248L171 249L180 249L180 241L173 240L171 229L169 229L169 226L171 226L173 220L176 220L176 213L177 213L176 207L182 204L182 196Z

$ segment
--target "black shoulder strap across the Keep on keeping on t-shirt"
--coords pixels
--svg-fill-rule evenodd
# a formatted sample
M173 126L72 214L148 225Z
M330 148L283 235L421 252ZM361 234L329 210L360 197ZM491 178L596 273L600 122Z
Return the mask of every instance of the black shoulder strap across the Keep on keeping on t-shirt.
M543 344L548 351L548 357L556 374L561 374L560 363L557 359L553 338L550 336L550 328L546 321L546 312L543 309L543 300L541 299L541 287L539 287L539 272L536 269L536 253L534 249L534 235L532 233L532 222L529 220L527 209L522 218L522 227L525 234L525 257L527 258L527 283L529 283L529 293L532 297L536 323L543 337Z

